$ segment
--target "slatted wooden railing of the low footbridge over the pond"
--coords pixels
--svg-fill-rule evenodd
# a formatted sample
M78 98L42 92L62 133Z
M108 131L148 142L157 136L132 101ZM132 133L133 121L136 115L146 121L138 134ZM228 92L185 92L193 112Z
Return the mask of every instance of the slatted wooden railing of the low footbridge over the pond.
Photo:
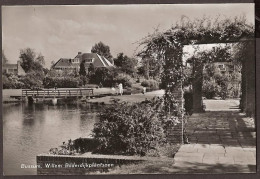
M22 96L56 96L56 97L66 97L66 96L91 96L94 95L92 88L84 89L39 89L39 90L22 90Z

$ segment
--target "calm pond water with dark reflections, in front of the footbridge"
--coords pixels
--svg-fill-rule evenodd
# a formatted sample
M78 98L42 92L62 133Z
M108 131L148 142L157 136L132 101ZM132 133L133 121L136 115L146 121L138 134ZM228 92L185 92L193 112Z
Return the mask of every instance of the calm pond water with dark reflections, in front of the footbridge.
M102 106L3 104L4 175L36 175L36 156L62 142L89 137Z

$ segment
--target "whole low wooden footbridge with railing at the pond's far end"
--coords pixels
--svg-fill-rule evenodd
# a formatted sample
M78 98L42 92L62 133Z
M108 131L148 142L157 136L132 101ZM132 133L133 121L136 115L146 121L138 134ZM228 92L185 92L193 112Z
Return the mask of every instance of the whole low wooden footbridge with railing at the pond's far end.
M26 100L26 99L78 99L83 97L92 97L94 92L92 88L79 89L24 89L22 95L10 96L11 98Z

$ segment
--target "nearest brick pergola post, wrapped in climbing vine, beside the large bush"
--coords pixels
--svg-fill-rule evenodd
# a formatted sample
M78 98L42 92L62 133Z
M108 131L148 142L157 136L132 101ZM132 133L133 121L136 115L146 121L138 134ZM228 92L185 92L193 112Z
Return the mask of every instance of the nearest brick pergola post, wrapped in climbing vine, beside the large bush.
M182 53L183 48L169 48L165 53L165 101L169 104L169 112L171 115L177 115L180 123L168 126L167 140L171 143L183 143L183 114L184 114L184 98L183 98L183 72L182 72ZM176 67L178 66L178 67ZM179 71L178 71L179 70ZM178 71L178 72L177 72ZM175 106L176 105L176 106Z

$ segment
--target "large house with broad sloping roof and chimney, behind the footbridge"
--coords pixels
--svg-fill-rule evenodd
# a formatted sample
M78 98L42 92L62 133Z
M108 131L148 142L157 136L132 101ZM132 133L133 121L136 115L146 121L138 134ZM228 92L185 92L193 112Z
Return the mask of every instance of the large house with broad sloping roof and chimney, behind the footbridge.
M98 55L97 53L81 53L78 52L74 59L61 58L52 67L53 70L63 72L65 70L71 72L79 72L80 64L84 63L86 72L90 64L93 64L95 68L108 68L114 65L105 57Z

